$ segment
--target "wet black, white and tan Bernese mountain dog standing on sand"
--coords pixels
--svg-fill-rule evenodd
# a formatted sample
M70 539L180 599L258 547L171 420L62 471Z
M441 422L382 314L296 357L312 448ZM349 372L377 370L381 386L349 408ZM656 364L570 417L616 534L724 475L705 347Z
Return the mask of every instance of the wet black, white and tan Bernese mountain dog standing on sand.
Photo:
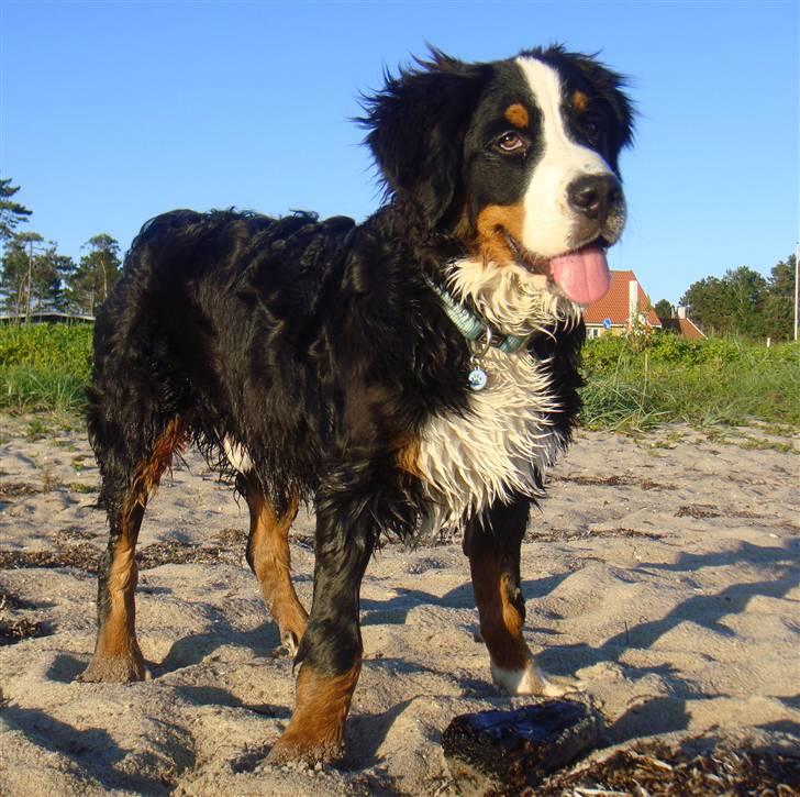
M562 694L525 643L520 544L579 409L581 306L625 223L623 78L560 46L433 51L364 98L386 201L364 223L177 210L147 222L95 331L88 429L110 541L87 682L142 679L134 551L197 445L249 507L247 561L300 665L270 760L331 761L381 538L458 530L491 675ZM310 611L289 527L316 513Z

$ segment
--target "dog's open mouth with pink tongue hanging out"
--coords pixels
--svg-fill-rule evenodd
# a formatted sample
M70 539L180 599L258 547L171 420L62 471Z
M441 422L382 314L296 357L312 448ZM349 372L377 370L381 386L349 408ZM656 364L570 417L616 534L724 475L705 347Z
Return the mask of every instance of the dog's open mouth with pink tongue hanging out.
M503 233L514 261L531 274L553 280L566 296L579 305L602 298L611 286L611 272L605 259L608 242L598 236L582 246L555 257L537 257L513 235Z

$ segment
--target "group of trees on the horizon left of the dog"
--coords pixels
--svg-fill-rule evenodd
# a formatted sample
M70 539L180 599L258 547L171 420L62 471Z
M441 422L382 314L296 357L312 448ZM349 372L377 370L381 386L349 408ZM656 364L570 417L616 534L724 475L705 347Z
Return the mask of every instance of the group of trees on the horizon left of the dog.
M10 178L0 178L2 311L16 317L47 310L93 316L122 273L119 242L107 233L93 235L76 263L55 242L18 230L33 214L13 199L19 190Z

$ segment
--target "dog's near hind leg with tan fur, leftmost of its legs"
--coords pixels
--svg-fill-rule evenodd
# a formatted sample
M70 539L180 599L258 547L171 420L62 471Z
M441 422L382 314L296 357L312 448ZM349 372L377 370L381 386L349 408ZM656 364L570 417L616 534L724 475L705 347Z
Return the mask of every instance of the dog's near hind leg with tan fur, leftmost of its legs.
M99 451L103 474L102 500L109 518L109 544L100 561L98 583L98 634L95 655L79 676L86 682L120 683L145 677L144 657L136 641L135 597L138 578L136 539L147 499L158 487L173 454L186 441L180 419L167 423L148 458L130 477L120 465L111 465ZM108 457L112 460L112 457Z

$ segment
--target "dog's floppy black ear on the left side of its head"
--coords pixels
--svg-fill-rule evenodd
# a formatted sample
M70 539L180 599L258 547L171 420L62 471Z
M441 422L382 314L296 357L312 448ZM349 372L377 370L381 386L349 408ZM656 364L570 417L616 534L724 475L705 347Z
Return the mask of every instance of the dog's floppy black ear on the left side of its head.
M438 51L419 66L387 74L385 88L363 98L358 121L389 191L415 204L433 230L458 193L466 129L490 67Z

